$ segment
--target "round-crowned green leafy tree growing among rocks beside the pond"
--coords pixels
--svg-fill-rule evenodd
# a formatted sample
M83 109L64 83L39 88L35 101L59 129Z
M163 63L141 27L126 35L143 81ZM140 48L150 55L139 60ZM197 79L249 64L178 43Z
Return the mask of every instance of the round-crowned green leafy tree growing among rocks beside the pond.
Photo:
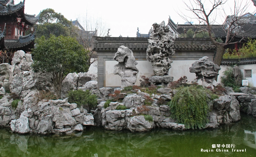
M35 72L52 73L53 85L57 99L60 98L62 81L70 72L88 71L88 51L79 45L76 39L60 35L50 35L48 40L44 36L36 39L36 48L32 55Z

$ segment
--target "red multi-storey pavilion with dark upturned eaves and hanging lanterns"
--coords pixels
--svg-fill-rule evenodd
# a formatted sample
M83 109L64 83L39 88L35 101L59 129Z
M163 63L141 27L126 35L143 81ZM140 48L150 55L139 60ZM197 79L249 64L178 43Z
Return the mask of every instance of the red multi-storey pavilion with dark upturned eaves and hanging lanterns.
M40 14L25 14L25 0L19 4L14 4L13 0L0 0L0 3L0 49L30 51L35 40L33 25ZM33 34L26 35L28 29Z

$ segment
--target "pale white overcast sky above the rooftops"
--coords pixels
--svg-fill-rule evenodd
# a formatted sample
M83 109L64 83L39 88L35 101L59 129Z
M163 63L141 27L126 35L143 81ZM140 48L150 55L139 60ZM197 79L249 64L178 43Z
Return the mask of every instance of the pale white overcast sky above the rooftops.
M22 0L23 1L23 0ZM190 0L184 0L189 3ZM207 0L206 0L207 1ZM246 0L244 0L246 1ZM15 4L20 0L15 0ZM251 2L251 0L247 0ZM230 14L230 7L233 6L234 0L228 0L225 5L227 14ZM205 3L206 6L210 5ZM171 19L179 24L184 24L185 20L180 18L177 12L190 15L185 10L185 4L181 0L26 0L25 13L38 14L40 11L52 8L56 12L61 13L67 19L82 20L86 16L101 18L106 22L107 28L110 28L109 35L118 37L136 37L137 27L141 34L148 34L152 24L165 21L168 23L169 15ZM251 2L249 11L255 11L255 6ZM218 17L219 21L223 21ZM83 22L80 22L81 24ZM196 21L195 21L196 23Z

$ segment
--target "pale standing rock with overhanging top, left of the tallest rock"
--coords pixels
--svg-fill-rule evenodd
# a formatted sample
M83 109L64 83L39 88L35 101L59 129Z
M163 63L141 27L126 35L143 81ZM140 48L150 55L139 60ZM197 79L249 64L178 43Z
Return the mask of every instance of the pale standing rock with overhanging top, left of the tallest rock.
M114 66L114 74L121 76L121 88L133 86L139 70L136 68L138 63L133 56L132 50L122 45L118 48L114 59L119 62Z

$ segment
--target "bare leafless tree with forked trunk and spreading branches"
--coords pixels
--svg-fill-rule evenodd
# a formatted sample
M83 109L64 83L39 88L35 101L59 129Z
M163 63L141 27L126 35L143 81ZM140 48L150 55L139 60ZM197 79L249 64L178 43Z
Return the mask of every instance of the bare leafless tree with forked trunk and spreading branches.
M206 2L208 2L208 4L204 5L204 3ZM243 15L247 13L249 4L251 3L249 1L244 2L243 0L234 0L234 6L233 8L230 8L230 11L232 11L232 15L227 16L225 12L226 10L224 9L224 4L227 4L227 2L228 0L190 0L190 3L185 3L183 1L187 8L186 10L192 12L194 17L191 18L185 14L178 13L182 19L186 20L190 24L192 19L196 19L197 21L199 21L199 25L202 22L206 23L205 26L193 25L196 28L194 37L196 36L197 33L207 30L210 40L217 48L214 63L218 64L219 66L225 51L225 46L227 46L228 44L235 44L245 40L244 37L241 37L239 41L234 41L236 35L241 32L241 25L244 24L246 18L249 18L244 17ZM225 18L224 24L220 25L222 26L222 29L226 32L226 40L224 41L224 43L217 42L212 32L212 25L216 22L217 15L220 15L222 16L222 18ZM201 30L198 31L197 29Z

